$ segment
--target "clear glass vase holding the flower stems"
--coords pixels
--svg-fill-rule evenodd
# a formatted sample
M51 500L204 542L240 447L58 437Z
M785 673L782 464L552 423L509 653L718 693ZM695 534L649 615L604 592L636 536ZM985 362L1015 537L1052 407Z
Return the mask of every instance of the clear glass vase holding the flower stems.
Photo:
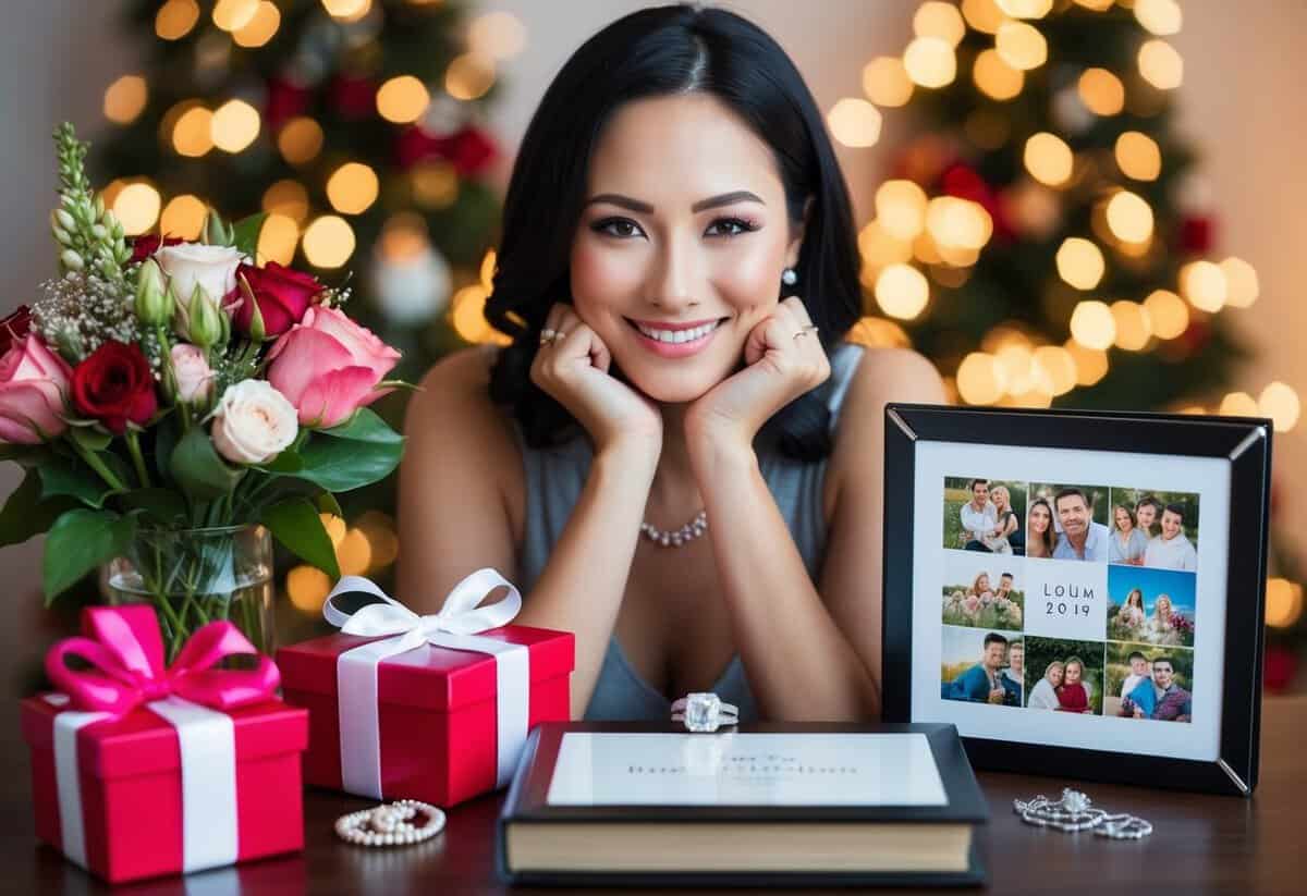
M170 664L214 619L234 623L260 653L276 650L272 538L260 525L142 529L106 573L110 603L154 607Z

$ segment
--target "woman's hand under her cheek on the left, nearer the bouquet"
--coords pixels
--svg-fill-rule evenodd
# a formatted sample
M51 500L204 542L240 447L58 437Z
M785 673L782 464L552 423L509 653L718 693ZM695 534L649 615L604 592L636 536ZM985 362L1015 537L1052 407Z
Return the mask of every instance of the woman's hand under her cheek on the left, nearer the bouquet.
M644 396L613 377L613 357L599 334L582 323L571 306L555 303L545 320L545 334L531 364L531 381L575 417L595 443L595 453L618 444L663 449L663 415Z

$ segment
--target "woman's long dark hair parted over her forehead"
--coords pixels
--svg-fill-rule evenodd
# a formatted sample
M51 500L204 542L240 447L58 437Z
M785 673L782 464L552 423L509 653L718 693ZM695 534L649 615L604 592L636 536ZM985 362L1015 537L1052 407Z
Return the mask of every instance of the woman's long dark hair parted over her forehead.
M623 103L689 91L721 101L767 142L792 222L804 219L810 200L796 273L826 349L857 321L861 289L848 192L793 63L762 29L724 9L680 4L631 13L582 44L549 85L505 200L485 313L512 345L491 371L490 394L511 409L531 445L575 432L571 414L531 381L531 364L549 308L571 303L571 243L600 132ZM808 393L761 435L791 457L816 460L830 453L829 423L826 405Z

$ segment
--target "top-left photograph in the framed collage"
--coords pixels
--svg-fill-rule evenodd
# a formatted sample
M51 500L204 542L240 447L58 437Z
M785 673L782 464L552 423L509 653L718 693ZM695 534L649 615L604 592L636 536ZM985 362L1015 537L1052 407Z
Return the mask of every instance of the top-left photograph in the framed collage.
M1026 483L944 477L944 546L976 554L1023 554Z

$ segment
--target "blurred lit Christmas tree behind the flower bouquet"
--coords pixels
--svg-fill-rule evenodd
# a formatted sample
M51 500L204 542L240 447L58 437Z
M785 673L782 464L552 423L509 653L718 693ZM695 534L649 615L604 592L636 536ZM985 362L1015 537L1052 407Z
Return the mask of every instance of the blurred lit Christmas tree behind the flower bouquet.
M329 285L350 272L352 316L404 353L409 381L497 338L481 315L499 205L480 121L497 60L521 48L516 20L468 22L442 0L131 0L124 26L140 72L106 90L93 166L128 234L196 238L207 205L267 212L259 253ZM404 402L375 408L399 424ZM342 571L387 577L393 488L344 496L350 525L329 524ZM308 567L288 585L306 610L327 589Z

